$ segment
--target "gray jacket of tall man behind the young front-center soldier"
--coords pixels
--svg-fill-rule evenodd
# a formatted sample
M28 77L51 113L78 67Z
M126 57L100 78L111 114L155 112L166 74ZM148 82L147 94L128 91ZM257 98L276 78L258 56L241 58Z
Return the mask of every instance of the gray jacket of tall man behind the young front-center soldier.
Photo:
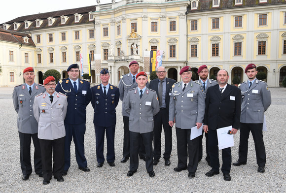
M130 75L130 73L125 74L121 77L119 83L118 83L118 88L119 88L119 93L120 93L120 100L122 101L122 115L129 117L129 114L125 111L124 108L124 102L125 98L127 96L127 93L129 90L134 89L138 86L136 80L133 83L133 77ZM146 87L149 87L149 82L146 83Z

